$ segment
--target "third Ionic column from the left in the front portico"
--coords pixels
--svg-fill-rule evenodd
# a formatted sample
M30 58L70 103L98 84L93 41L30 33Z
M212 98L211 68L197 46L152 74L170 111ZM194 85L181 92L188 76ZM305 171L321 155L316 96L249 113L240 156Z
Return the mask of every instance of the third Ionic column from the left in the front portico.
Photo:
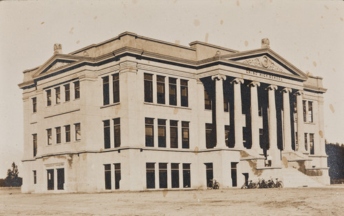
M248 84L251 93L251 131L252 131L252 147L255 152L261 153L259 145L259 114L258 114L258 93L257 87L260 82L253 81Z

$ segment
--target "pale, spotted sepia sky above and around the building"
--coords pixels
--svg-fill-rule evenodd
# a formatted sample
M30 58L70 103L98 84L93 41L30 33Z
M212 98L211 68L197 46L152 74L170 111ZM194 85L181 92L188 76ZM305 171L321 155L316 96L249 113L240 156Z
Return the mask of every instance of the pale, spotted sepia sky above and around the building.
M69 53L122 32L189 46L270 48L324 78L325 139L344 143L344 1L0 1L0 178L23 154L17 84L43 64L54 43Z

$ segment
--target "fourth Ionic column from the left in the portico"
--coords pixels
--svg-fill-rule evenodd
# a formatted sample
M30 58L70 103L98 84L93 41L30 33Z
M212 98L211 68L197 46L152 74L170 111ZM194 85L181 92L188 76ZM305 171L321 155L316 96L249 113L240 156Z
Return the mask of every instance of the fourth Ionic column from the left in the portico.
M270 150L275 150L277 148L277 116L276 116L276 104L275 104L275 90L277 86L270 85L268 88L268 97L269 97L269 145Z

